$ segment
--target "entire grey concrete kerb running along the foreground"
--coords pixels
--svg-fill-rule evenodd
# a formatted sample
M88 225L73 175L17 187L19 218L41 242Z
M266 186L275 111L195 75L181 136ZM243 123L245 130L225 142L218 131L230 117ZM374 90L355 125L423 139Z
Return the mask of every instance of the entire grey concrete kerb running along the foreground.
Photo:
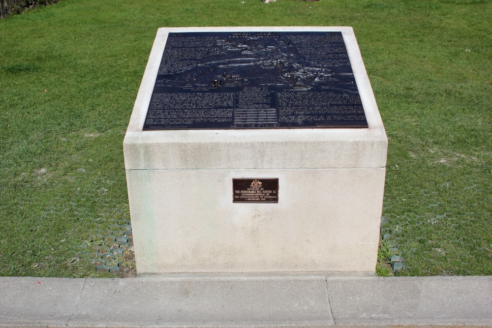
M0 277L0 327L492 327L492 276Z

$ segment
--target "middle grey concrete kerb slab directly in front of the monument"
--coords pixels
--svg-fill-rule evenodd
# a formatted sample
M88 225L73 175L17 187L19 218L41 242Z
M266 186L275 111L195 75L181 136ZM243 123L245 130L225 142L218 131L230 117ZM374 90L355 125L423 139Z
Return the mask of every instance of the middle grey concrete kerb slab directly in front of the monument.
M69 327L331 326L324 276L87 279Z

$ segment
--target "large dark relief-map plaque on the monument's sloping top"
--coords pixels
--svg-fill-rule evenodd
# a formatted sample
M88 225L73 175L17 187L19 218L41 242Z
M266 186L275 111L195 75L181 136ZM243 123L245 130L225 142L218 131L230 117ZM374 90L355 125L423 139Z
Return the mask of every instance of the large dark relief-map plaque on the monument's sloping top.
M169 33L143 130L365 128L341 32Z

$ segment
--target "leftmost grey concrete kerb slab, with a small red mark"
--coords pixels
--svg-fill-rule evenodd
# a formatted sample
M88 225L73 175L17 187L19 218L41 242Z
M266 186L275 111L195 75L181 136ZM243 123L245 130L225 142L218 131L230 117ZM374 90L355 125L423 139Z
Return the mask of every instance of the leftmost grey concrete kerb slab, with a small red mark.
M65 326L85 279L0 277L0 325Z

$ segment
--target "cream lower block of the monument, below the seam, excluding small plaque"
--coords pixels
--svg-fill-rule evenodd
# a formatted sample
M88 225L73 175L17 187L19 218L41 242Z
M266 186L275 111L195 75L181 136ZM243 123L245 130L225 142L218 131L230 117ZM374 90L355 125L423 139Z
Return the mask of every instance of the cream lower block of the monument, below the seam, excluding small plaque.
M127 172L139 273L373 271L384 169ZM278 204L232 203L233 178Z

